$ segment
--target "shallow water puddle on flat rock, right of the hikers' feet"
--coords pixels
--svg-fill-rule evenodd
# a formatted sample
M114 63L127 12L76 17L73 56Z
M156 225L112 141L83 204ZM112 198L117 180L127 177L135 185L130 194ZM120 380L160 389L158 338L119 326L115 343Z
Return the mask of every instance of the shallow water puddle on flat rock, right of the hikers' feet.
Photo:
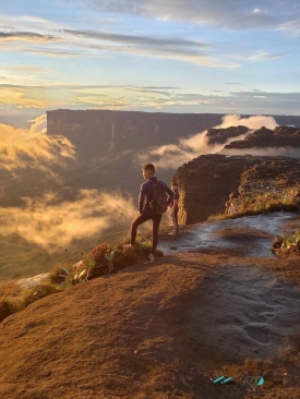
M273 256L269 249L274 237L280 234L283 226L296 217L297 214L274 213L204 222L176 237L164 237L158 247L165 254L176 247L176 252L226 250L245 257L268 257Z

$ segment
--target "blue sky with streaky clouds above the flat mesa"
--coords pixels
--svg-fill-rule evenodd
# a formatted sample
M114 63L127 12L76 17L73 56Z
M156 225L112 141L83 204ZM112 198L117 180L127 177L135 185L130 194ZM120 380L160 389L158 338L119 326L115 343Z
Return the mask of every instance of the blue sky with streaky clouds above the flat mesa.
M298 0L3 0L0 123L55 108L300 114L299 36Z

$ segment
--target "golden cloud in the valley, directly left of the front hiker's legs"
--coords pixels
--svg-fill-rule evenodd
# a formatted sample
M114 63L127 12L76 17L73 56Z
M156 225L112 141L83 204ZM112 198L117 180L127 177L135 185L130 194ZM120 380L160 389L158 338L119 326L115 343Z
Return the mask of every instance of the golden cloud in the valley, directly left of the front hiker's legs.
M49 252L61 251L74 240L100 237L116 223L129 226L136 214L131 197L97 190L81 190L75 202L60 202L55 193L23 200L23 208L0 208L1 234L16 233Z

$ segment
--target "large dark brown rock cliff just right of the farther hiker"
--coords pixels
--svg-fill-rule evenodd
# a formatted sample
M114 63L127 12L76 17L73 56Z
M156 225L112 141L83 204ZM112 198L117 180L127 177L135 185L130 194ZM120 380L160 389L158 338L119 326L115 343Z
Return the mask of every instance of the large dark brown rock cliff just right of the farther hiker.
M231 193L249 194L300 184L300 160L285 157L202 155L175 173L179 185L179 221L195 223L224 213Z

